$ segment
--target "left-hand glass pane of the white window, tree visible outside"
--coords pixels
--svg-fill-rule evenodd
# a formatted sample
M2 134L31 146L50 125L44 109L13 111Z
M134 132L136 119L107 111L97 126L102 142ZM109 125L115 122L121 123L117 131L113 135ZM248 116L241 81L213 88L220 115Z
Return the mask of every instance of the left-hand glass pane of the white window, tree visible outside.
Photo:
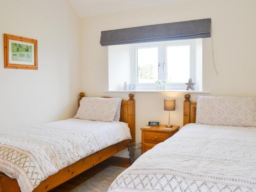
M138 83L155 83L158 80L158 48L143 48L138 54Z

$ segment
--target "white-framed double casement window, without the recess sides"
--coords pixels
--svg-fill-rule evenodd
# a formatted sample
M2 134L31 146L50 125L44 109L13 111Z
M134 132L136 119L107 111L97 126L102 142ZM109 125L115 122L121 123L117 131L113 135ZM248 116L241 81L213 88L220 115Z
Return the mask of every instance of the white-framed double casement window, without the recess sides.
M131 82L137 88L155 89L156 81L164 80L167 89L177 89L189 78L195 79L195 39L131 46Z

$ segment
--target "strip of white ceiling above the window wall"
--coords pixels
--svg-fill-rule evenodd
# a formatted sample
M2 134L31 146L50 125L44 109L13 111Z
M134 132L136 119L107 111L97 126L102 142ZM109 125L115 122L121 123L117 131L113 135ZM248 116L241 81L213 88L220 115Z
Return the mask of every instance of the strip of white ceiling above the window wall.
M80 17L152 7L182 0L68 0Z

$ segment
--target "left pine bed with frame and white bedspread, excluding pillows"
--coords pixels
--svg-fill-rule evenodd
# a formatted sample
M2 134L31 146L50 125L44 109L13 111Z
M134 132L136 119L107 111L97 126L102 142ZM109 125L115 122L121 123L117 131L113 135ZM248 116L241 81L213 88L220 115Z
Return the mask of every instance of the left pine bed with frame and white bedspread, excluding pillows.
M126 148L135 139L129 97L120 100L120 122L73 118L2 133L0 191L49 191Z

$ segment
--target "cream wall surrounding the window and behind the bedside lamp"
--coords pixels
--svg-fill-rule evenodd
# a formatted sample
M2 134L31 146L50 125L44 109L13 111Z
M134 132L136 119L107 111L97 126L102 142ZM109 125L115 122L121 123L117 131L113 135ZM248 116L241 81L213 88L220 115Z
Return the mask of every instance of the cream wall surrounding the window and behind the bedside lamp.
M203 90L210 95L256 96L256 1L194 0L143 8L82 19L82 90L88 96L120 96L105 94L108 90L108 48L99 44L100 31L212 18L212 32L217 76L212 65L210 38L203 39ZM148 120L167 123L164 98L175 98L176 111L172 123L182 125L183 93L136 93L136 140L140 127ZM193 100L197 94L193 94Z

